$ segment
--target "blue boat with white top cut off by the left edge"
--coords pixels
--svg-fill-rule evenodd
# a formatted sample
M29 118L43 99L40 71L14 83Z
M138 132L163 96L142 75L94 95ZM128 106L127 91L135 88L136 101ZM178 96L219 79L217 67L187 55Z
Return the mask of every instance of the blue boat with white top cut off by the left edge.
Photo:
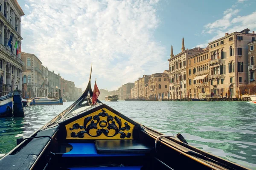
M12 116L13 94L0 97L0 117Z

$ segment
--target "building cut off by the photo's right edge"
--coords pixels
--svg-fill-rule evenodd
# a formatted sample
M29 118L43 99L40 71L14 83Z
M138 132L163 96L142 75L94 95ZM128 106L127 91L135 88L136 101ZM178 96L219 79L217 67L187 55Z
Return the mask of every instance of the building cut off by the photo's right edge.
M253 31L253 34L255 34L255 32ZM253 84L256 84L256 81L255 81L255 77L256 77L256 71L255 71L255 68L256 68L256 62L255 62L255 59L256 59L256 40L254 37L252 37L252 42L249 42L248 43L248 48L249 48L249 51L248 51L248 56L249 56L249 59L248 59L248 74L249 74L249 84L253 83Z

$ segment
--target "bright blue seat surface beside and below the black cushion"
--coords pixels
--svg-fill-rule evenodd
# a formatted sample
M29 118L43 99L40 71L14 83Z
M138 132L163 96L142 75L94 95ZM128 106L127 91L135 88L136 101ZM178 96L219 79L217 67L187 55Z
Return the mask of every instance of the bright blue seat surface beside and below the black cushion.
M144 156L144 153L99 154L94 143L69 143L73 149L62 157L93 157L93 156Z

